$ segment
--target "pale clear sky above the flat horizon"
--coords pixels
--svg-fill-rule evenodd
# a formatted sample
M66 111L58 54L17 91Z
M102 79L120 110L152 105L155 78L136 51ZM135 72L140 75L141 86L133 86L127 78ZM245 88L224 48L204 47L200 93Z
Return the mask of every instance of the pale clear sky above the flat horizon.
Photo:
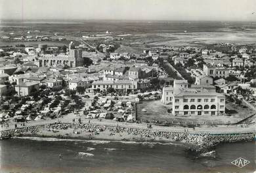
M256 21L256 0L0 0L0 20Z

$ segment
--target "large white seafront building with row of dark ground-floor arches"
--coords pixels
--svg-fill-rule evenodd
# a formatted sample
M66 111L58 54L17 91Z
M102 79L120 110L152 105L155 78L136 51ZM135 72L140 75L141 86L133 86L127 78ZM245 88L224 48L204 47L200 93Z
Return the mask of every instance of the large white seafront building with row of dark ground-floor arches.
M203 87L203 86L202 86ZM163 87L161 102L170 104L173 115L217 116L224 114L225 96L211 89L188 87L184 80L175 80L172 87Z

